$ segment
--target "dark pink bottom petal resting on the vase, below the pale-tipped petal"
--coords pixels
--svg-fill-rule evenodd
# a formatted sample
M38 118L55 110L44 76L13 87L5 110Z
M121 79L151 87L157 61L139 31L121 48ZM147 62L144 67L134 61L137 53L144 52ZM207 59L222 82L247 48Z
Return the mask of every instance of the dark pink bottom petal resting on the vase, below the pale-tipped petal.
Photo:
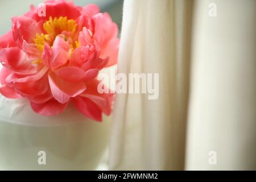
M62 113L67 108L68 102L66 104L60 104L55 99L52 99L42 104L30 102L30 105L32 109L38 114L44 116L54 116Z

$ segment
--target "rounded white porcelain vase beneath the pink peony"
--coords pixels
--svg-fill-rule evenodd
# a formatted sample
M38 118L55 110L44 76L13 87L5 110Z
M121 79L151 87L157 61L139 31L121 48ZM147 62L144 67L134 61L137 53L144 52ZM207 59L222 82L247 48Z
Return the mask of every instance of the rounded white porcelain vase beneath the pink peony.
M59 116L43 117L26 100L0 96L0 169L94 170L104 156L109 129L109 117L92 121L73 106Z

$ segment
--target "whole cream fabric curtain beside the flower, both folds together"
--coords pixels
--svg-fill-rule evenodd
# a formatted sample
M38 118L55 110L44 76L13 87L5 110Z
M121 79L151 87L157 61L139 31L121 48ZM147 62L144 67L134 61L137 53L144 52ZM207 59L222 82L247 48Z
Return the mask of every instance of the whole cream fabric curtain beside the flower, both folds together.
M255 18L254 0L125 0L118 73L159 73L159 98L117 95L110 169L256 169Z

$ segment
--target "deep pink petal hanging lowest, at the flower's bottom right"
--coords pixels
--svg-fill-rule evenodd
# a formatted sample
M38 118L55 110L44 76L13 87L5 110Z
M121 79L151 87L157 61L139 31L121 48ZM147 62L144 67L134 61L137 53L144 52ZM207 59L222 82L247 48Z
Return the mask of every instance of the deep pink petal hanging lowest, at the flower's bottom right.
M100 108L88 98L76 97L73 98L73 103L77 109L88 118L102 121L102 112Z

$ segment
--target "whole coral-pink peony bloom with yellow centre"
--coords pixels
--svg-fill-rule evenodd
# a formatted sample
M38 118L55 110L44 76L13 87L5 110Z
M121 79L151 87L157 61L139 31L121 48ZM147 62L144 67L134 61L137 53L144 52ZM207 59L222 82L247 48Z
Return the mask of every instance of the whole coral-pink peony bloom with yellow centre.
M98 72L117 63L117 24L96 5L46 1L32 6L0 37L0 93L26 98L41 115L60 114L70 102L96 121L112 111L113 94L98 93Z

